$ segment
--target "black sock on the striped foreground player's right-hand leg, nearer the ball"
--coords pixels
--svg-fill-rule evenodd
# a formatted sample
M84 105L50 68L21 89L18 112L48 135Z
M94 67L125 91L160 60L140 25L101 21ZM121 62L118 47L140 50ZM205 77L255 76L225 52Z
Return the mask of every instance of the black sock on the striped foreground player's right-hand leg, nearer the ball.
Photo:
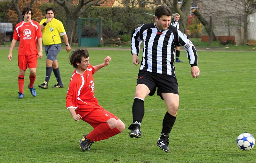
M168 111L165 113L164 120L163 120L163 129L161 133L160 139L164 139L165 136L171 132L172 126L176 120L176 117L172 116L168 113Z

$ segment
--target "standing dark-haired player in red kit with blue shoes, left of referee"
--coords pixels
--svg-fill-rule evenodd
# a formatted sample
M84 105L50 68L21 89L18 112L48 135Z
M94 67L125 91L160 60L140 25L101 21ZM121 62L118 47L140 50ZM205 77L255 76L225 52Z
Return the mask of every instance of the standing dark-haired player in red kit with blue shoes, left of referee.
M43 56L43 44L42 44L42 32L39 23L31 20L33 15L32 9L25 7L22 11L24 21L18 23L15 26L12 44L10 47L8 59L12 60L12 50L15 47L17 40L20 40L19 52L18 52L18 66L20 72L18 76L19 83L19 96L18 98L24 97L24 76L26 69L29 68L29 85L28 89L32 96L36 96L34 89L34 82L36 80L36 67L37 59ZM36 40L39 45L39 52L37 52Z

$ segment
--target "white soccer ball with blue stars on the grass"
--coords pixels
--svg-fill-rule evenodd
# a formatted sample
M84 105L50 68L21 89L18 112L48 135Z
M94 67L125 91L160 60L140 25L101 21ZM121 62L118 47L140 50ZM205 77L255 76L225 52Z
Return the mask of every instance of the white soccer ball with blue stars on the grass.
M252 134L242 133L237 137L236 145L243 151L249 151L254 147L255 139L253 138Z

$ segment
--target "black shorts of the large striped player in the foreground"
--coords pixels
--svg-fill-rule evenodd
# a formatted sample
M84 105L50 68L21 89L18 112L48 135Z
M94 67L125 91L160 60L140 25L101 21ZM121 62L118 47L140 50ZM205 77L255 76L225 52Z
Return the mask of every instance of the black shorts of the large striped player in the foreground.
M138 84L145 84L148 87L150 90L149 96L155 94L156 88L157 96L160 96L161 99L163 99L162 93L174 93L179 95L178 81L171 75L140 71L137 79L137 85Z

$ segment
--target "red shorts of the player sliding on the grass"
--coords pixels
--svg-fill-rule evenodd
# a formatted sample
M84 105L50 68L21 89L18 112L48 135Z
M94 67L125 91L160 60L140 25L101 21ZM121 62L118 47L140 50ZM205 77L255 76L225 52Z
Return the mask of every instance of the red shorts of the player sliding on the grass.
M82 120L90 124L93 128L97 127L101 123L107 122L110 118L115 118L116 120L119 119L100 105L99 107L94 108L90 113L88 113L86 109L76 109L76 114L80 114L80 116L83 117ZM84 114L87 115L84 116Z

